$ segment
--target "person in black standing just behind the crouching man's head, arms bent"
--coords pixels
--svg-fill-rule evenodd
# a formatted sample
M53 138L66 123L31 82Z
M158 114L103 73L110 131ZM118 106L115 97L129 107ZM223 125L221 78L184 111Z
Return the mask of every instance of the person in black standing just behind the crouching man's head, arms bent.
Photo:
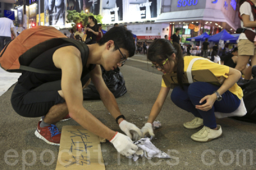
M96 36L99 35L98 21L92 15L88 17L89 24L86 26L84 34L86 34L86 44L96 43Z

